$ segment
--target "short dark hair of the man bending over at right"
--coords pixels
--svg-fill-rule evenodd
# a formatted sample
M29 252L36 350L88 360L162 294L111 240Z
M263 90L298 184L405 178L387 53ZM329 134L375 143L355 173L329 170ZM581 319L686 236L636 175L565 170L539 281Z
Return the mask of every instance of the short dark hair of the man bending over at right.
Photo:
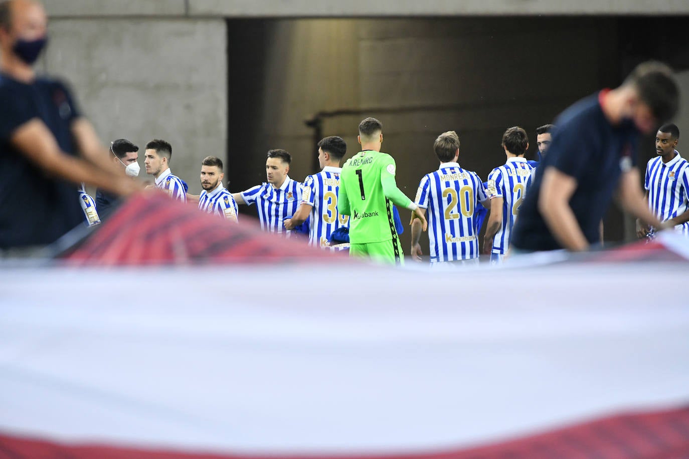
M648 105L657 122L665 122L677 113L677 80L672 69L664 63L648 61L637 65L624 84L634 85L639 98Z

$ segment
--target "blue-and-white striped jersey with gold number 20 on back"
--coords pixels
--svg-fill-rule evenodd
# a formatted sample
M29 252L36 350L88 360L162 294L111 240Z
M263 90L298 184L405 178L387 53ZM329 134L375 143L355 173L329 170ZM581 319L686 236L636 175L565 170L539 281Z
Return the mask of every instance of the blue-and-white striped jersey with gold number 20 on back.
M431 263L479 256L474 211L477 202L486 199L478 175L456 162L444 162L438 171L424 175L415 202L427 209Z

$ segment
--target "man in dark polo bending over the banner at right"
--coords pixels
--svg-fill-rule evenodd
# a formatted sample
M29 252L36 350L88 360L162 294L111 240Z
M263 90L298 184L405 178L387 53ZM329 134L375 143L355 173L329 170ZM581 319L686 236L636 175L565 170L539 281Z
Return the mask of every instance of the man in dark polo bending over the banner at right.
M621 86L566 109L522 203L512 252L588 250L600 240L600 222L614 193L624 210L664 228L641 193L637 142L639 133L650 134L675 115L678 98L672 70L647 62Z

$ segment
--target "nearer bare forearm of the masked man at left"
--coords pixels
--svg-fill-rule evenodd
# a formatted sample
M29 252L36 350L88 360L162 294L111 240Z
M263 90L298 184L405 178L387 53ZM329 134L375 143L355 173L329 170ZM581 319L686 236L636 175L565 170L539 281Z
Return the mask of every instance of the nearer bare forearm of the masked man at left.
M140 188L134 180L94 167L83 158L75 158L61 151L52 132L38 118L32 118L17 127L10 136L10 142L44 171L74 184L84 182L122 196Z

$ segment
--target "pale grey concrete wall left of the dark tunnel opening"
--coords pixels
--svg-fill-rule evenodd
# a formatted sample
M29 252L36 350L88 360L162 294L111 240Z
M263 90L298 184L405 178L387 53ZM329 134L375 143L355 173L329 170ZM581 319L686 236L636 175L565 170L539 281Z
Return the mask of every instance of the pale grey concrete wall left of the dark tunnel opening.
M127 138L143 158L147 141L169 141L172 171L198 193L200 159L226 156L226 48L223 19L58 18L43 68L71 83L106 145Z

